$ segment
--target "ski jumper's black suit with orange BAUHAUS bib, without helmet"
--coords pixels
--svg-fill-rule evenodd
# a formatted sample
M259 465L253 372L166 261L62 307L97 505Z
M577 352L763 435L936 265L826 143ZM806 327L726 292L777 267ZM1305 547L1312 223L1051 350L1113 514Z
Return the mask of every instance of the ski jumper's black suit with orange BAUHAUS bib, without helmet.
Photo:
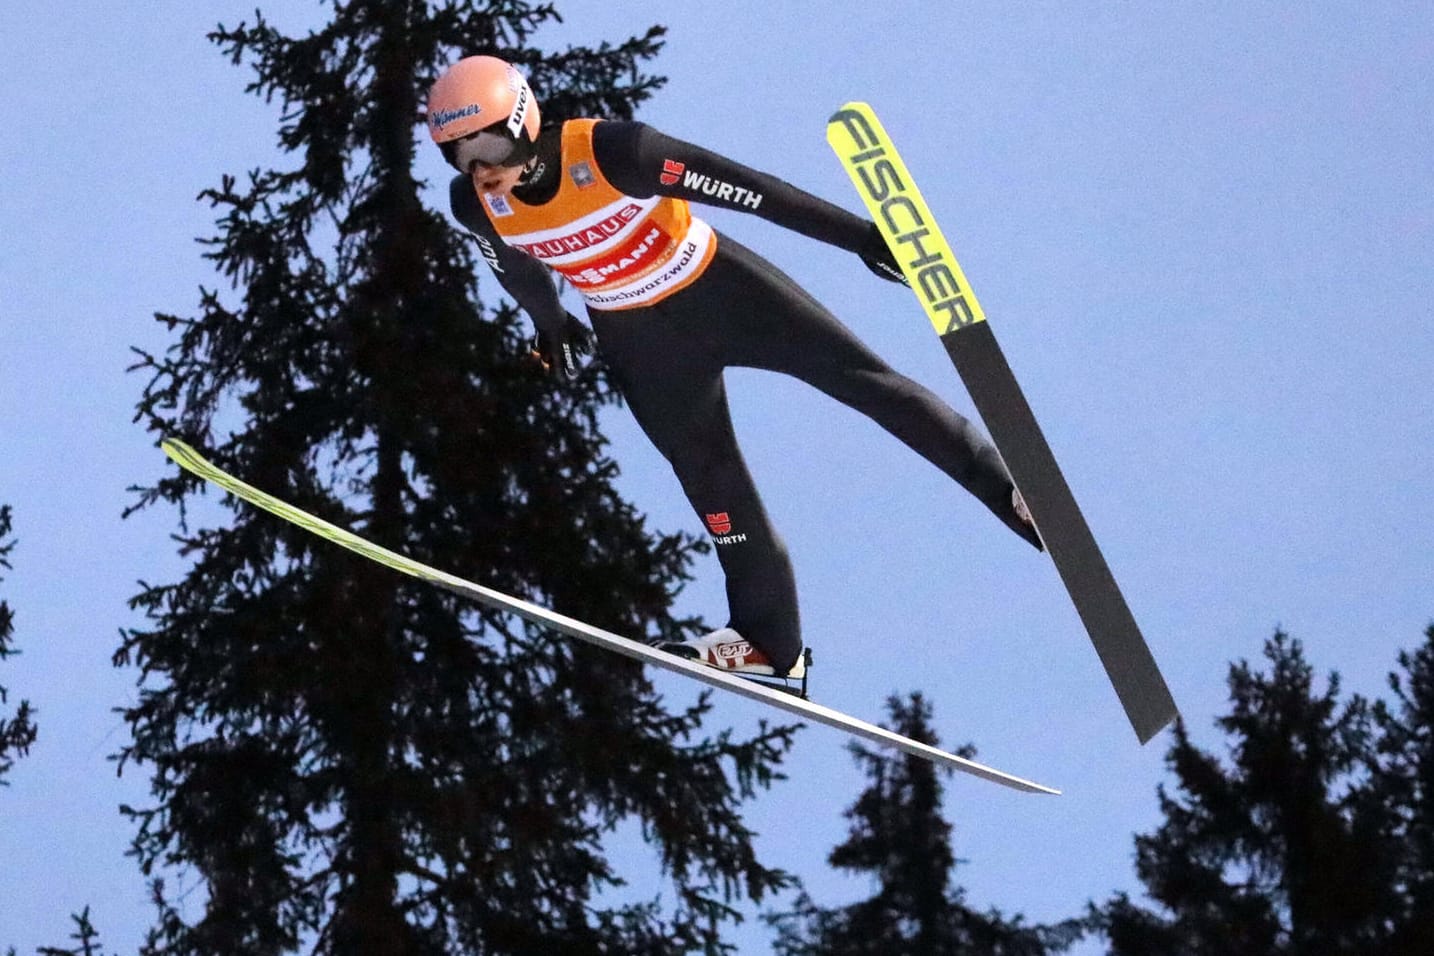
M509 196L456 176L453 215L543 330L566 320L548 269L584 297L598 348L638 424L673 466L721 562L728 626L779 674L802 651L796 582L743 462L723 370L794 376L870 417L1010 523L1011 477L961 414L898 374L774 265L693 216L751 212L860 252L870 222L635 122L545 129Z

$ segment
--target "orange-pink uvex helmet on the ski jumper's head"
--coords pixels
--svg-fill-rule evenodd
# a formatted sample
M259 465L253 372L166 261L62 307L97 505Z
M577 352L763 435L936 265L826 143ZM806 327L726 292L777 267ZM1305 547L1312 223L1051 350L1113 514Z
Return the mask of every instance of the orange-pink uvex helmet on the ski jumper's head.
M459 172L475 163L522 166L538 142L538 100L518 69L496 56L466 56L429 90L429 135Z

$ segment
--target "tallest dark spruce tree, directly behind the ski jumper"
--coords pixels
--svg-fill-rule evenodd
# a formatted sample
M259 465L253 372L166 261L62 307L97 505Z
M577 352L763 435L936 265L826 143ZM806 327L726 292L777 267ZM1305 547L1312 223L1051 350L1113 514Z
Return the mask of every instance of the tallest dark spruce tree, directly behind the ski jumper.
M545 119L631 118L661 30L541 53L556 19L523 0L350 0L290 37L261 13L211 39L282 105L290 169L202 193L229 290L143 354L139 420L373 540L631 636L677 636L697 548L614 489L599 368L558 383L526 320L480 300L416 181L423 95L457 56L518 63ZM423 148L430 148L426 142ZM424 205L429 198L433 209ZM486 282L486 277L482 279ZM179 506L182 580L145 586L119 664L141 672L120 767L158 920L145 952L721 952L734 903L789 877L761 864L740 803L790 728L703 731L637 664L403 579L255 510L195 507L184 474L135 507ZM671 896L614 904L605 836L640 826ZM181 902L175 870L202 893Z

